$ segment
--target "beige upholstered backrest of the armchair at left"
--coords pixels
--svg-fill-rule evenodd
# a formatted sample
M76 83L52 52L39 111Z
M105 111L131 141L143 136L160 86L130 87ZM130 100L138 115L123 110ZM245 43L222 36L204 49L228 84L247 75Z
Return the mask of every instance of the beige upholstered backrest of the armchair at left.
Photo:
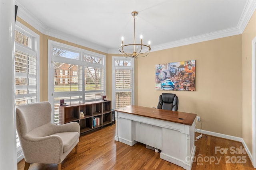
M52 107L49 102L38 102L16 107L16 124L19 135L51 122Z

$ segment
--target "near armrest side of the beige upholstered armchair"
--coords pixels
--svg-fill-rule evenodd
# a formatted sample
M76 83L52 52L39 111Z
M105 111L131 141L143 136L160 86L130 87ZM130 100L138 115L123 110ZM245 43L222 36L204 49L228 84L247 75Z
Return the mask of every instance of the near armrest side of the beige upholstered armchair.
M63 154L61 137L57 135L46 137L26 136L20 140L26 162L61 163L61 156Z

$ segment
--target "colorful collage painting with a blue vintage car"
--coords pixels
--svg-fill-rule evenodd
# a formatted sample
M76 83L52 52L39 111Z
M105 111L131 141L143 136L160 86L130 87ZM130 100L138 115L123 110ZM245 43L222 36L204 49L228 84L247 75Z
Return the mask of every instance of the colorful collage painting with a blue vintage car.
M156 90L195 91L196 61L156 64Z

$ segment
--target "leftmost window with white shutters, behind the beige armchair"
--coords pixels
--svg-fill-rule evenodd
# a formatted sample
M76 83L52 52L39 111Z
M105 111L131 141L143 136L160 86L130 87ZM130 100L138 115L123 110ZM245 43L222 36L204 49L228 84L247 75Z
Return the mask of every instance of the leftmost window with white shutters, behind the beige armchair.
M39 35L16 21L15 102L16 106L39 102ZM23 158L17 137L17 160Z

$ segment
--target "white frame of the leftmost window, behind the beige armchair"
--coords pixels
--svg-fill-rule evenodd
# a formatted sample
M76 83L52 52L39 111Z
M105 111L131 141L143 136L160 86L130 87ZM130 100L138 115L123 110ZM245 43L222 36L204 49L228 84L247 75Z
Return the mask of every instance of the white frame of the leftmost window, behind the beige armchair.
M39 70L39 66L40 66L40 51L39 51L39 39L40 36L35 33L34 31L32 31L31 29L29 29L28 27L26 27L25 25L23 25L22 23L20 23L19 21L16 21L15 23L15 30L19 31L20 33L32 38L32 48L26 47L24 45L21 45L19 43L15 42L15 51L21 52L21 53L25 53L27 55L33 55L37 57L37 69L36 69L36 101L40 102L40 70ZM15 61L14 61L15 62ZM15 63L14 63L15 64ZM15 83L14 83L15 84ZM24 158L23 153L22 153L22 149L21 146L17 146L17 162L20 162L20 160L22 160Z

